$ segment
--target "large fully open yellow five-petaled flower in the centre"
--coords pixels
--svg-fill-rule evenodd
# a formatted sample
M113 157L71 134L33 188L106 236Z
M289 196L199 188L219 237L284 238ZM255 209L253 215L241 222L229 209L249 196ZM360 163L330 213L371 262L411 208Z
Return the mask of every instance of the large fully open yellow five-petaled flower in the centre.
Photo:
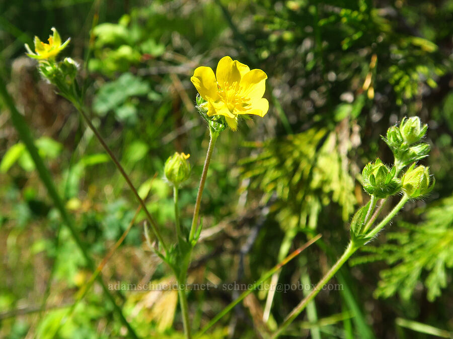
M239 115L264 117L267 113L269 102L263 98L266 79L261 69L250 70L249 66L225 56L218 62L215 75L212 68L201 66L195 69L190 81L207 101L207 115L225 117L228 126L236 131Z

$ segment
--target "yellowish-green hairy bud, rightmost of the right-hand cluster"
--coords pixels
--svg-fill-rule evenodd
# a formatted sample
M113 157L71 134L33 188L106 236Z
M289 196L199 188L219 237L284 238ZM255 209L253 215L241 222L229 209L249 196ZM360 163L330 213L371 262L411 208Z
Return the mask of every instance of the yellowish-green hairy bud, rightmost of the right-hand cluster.
M407 170L402 179L403 190L412 198L418 198L429 193L435 180L429 176L429 167L417 166L415 163Z

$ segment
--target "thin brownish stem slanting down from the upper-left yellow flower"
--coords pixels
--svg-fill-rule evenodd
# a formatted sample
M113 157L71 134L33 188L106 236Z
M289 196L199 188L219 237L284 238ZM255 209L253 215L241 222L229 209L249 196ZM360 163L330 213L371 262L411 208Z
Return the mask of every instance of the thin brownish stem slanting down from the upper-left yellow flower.
M152 228L156 238L158 239L158 241L161 244L162 248L164 249L165 253L167 253L168 252L167 246L165 245L164 239L162 238L161 233L159 232L157 222L154 220L154 218L149 213L143 199L140 197L140 195L138 195L137 189L132 184L132 181L130 180L130 178L127 175L126 171L124 170L123 166L121 166L121 164L118 161L118 159L116 158L115 154L113 154L112 150L107 146L107 144L105 143L104 139L102 138L101 134L98 132L96 127L94 127L94 125L91 123L90 119L88 118L88 116L85 112L85 108L83 107L83 105L78 103L77 101L72 101L72 103L74 104L75 108L77 108L77 110L79 110L80 114L85 119L85 122L87 123L88 127L93 131L96 138L98 138L99 142L101 143L102 147L104 147L104 150L107 152L107 154L112 159L113 163L116 165L116 168L120 171L121 175L126 180L127 184L129 185L130 190L134 193L135 197L137 198L138 202L140 203L141 207L143 208L143 210L149 220L149 223L151 224L151 228Z

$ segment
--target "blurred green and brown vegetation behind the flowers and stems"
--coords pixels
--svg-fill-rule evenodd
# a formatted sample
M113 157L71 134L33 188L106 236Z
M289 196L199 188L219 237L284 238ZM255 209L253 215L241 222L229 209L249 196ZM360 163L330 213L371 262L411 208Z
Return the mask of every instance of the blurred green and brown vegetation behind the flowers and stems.
M164 162L174 151L191 155L191 179L180 192L189 228L208 143L194 108L194 69L215 68L230 55L268 74L268 114L241 121L217 142L189 283L253 283L321 233L273 277L316 283L344 250L350 217L368 200L363 166L376 157L393 161L381 135L403 117L419 116L429 126L432 149L422 163L436 178L433 192L355 254L332 280L341 290L321 292L288 333L453 337L452 23L452 0L2 1L0 76L99 263L138 206L77 111L40 78L24 44L33 46L34 35L45 41L51 27L63 41L71 37L61 54L81 65L91 119L135 186L150 189L147 205L166 239L174 214ZM1 101L0 159L0 337L124 336L97 284L61 322L91 271ZM144 217L102 271L106 283L174 280L144 242ZM304 293L257 291L209 336L263 337ZM239 294L190 292L194 327ZM137 334L182 337L176 291L115 295Z

